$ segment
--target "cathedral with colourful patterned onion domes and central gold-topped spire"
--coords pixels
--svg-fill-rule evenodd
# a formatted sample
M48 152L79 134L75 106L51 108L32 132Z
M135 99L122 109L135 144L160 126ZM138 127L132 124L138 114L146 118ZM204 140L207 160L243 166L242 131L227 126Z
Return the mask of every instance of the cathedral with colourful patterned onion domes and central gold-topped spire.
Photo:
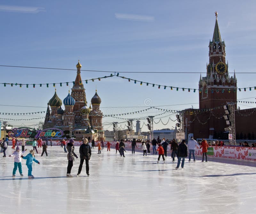
M85 89L81 79L81 68L79 60L76 65L76 80L68 96L63 99L65 110L61 108L62 101L58 97L55 89L53 97L48 102L44 125L51 128L58 128L66 132L69 136L69 130L72 129L77 140L86 137L88 140L104 140L104 131L102 127L103 114L100 111L101 99L97 94L91 99L90 107L86 100ZM51 109L50 109L50 107Z

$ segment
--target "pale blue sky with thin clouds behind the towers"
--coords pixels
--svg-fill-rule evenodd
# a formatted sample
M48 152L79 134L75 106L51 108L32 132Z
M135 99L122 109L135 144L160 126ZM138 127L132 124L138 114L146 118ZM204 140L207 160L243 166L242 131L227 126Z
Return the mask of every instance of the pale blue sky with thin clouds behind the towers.
M255 72L255 1L4 1L0 3L0 65L76 69L82 64L82 80L88 81L86 99L90 102L95 89L100 96L103 114L120 114L155 106L146 113L122 116L140 118L163 113L162 109L198 108L199 95L185 90L164 89L158 85L198 89L200 73L206 76L209 62L208 45L212 40L215 11L222 40L226 44L226 62L230 76L236 70L237 86L254 87ZM122 73L134 72L134 73ZM143 73L141 73L143 72ZM158 72L158 73L150 73ZM179 72L179 73L159 73ZM181 73L198 72L198 73ZM68 95L76 70L32 69L0 66L0 83L46 84L33 88L0 84L1 113L45 111L55 89L60 99ZM140 85L140 81L156 84ZM237 92L237 99L256 101L255 91ZM241 109L255 104L238 104ZM64 105L62 105L64 109ZM1 121L17 126L35 126L44 119L12 121L44 117L33 115L0 115ZM165 116L163 118L160 117ZM175 126L175 114L156 116L154 129ZM170 120L168 122L168 118ZM103 122L126 119L104 117ZM147 123L141 120L141 125ZM167 123L168 122L168 123ZM167 124L166 124L167 123ZM166 125L164 125L166 124ZM118 125L119 126L119 125ZM105 125L104 129L111 129ZM146 125L142 131L147 131Z

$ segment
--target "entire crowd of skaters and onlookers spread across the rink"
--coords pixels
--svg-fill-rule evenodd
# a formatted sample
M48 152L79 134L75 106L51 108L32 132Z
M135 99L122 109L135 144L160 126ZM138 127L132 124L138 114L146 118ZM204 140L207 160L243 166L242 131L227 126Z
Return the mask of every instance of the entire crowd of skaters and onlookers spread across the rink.
M6 149L8 147L8 141L9 141L8 137L3 138L1 141L1 153L4 154L3 157L6 157ZM46 138L46 141L43 143L41 138L38 138L38 139L34 138L34 140L32 141L33 149L31 149L29 151L28 155L26 155L26 156L23 156L23 154L27 151L27 149L25 149L25 143L26 143L27 139L23 138L21 140L22 151L20 151L19 146L16 147L17 141L18 141L17 138L12 138L12 150L14 150L14 152L9 155L9 157L14 157L14 168L13 168L12 176L15 177L17 169L19 169L20 176L23 176L22 166L21 166L21 158L22 158L22 159L27 160L26 165L28 167L28 178L33 179L34 176L32 175L32 163L34 161L34 162L40 164L39 161L36 160L36 158L35 158L35 152L38 154L37 148L40 147L40 148L42 148L41 157L44 155L44 153L46 154L46 156L48 156L48 154L47 154L48 140ZM85 165L86 165L86 174L87 174L87 176L89 176L89 160L92 155L91 149L94 147L98 148L98 154L101 154L101 151L104 149L105 143L102 140L101 142L98 142L97 145L95 145L94 139L92 141L88 141L87 138L83 138L82 141L83 141L83 144L81 144L80 148L79 148L80 165L78 168L77 176L79 176L82 171L84 161L85 161ZM121 140L120 143L118 141L116 141L116 145L115 145L116 154L118 151L121 157L122 156L125 157L124 152L126 152L126 150L125 150L124 142L125 142L124 140ZM37 143L37 148L36 148L36 143ZM50 143L52 146L51 138L50 138ZM149 141L141 141L141 140L136 140L134 138L131 143L132 154L135 154L135 147L137 148L136 143L142 143L141 150L143 151L143 156L147 156L147 153L150 153ZM185 140L182 140L182 142L178 145L178 143L175 139L169 141L169 140L165 140L165 138L160 139L159 137L157 139L154 138L152 140L151 144L152 144L153 154L157 154L157 152L158 152L157 164L159 163L161 157L165 163L165 158L167 157L167 148L168 148L168 145L170 145L170 150L172 151L172 153L171 153L172 162L174 162L175 156L177 156L177 158L178 158L177 166L175 167L175 169L179 169L180 163L181 163L181 168L182 169L184 168L185 158L187 156L189 156L188 162L191 161L191 155L193 156L194 162L196 162L196 159L195 159L196 146L198 146L200 149L202 149L202 154L203 154L202 162L204 162L204 157L205 157L205 162L207 162L207 151L208 151L209 146L225 145L223 141L218 141L218 140L216 142L213 141L212 144L210 142L207 143L207 141L204 139L202 140L202 142L197 142L196 140L193 139L193 137L191 137L191 139L188 141L188 146L186 145ZM110 145L112 145L112 144L109 141L107 141L106 145L107 145L107 152L108 152L108 151L110 151ZM157 149L156 149L156 145L158 146ZM242 142L239 143L239 145L250 147L246 141L244 142L244 144ZM256 146L255 144L252 144L252 147L255 147L255 146ZM16 149L15 149L15 147L16 147ZM69 139L69 142L67 143L65 141L65 139L61 139L60 147L61 148L64 147L64 152L68 153L67 154L67 158L68 158L67 177L73 177L73 175L71 174L73 161L75 160L75 158L78 158L78 156L74 152L74 150L75 150L74 140Z

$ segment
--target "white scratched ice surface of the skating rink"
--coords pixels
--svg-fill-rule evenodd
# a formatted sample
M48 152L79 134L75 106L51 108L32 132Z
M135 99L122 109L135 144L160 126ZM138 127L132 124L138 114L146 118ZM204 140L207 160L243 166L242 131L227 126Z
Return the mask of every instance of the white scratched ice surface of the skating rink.
M30 146L26 147L28 150ZM1 154L0 213L255 213L256 164L201 162L201 158L175 170L170 154L166 163L158 155L141 152L116 154L105 148L100 155L92 149L90 176L85 163L79 177L66 177L67 154L59 146L42 149L33 163L35 179L28 180L17 170L12 178L13 157ZM75 153L79 157L79 147ZM12 152L8 146L6 155ZM28 154L28 151L25 155ZM80 159L75 159L71 174L76 175ZM230 164L232 163L232 164Z

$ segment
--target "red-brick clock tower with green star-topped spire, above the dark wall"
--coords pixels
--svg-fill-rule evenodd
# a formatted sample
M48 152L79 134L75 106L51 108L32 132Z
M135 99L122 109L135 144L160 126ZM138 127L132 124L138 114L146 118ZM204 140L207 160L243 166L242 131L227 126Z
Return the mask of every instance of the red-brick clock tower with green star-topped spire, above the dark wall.
M236 74L230 77L226 63L225 42L221 40L218 13L215 12L215 26L212 41L209 42L209 63L206 77L199 80L199 108L216 108L226 102L236 102ZM235 106L236 107L236 106Z

